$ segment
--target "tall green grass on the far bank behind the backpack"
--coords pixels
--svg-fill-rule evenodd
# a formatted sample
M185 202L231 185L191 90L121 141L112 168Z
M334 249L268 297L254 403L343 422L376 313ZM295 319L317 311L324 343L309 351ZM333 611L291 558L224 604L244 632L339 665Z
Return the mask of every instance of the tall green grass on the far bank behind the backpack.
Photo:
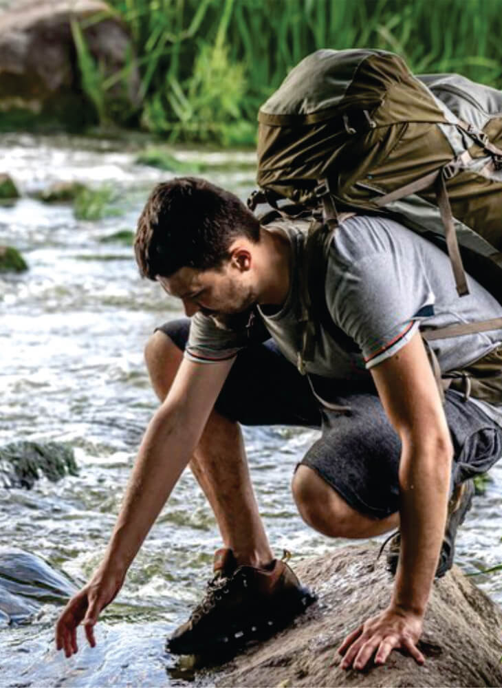
M252 144L261 103L319 47L398 52L417 73L461 72L502 88L502 0L111 0L133 38L142 127L169 140ZM94 21L90 19L89 21ZM83 87L120 123L72 25ZM123 113L124 119L130 112Z

